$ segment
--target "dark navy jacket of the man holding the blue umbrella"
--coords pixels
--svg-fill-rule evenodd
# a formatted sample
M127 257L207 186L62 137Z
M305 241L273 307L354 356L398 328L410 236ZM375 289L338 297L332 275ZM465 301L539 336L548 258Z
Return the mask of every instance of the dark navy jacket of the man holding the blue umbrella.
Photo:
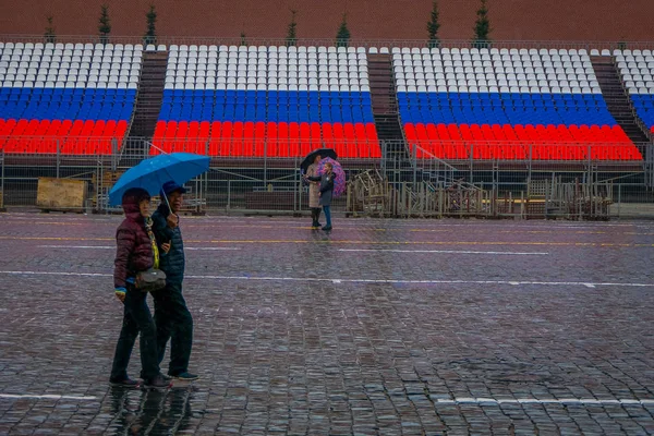
M184 241L182 240L182 231L180 227L171 229L166 219L170 215L168 205L161 204L153 214L153 231L157 238L159 246L166 242L170 242L170 251L167 254L161 253L159 268L166 272L166 280L171 283L180 284L184 280L184 266L186 259L184 257Z

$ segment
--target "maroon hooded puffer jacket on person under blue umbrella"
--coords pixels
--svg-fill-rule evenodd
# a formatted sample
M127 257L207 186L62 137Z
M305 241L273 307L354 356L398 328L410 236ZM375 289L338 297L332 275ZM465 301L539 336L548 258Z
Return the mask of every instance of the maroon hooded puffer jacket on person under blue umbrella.
M116 231L114 288L124 288L129 277L152 268L155 263L153 244L145 230L145 218L138 209L138 203L144 198L143 193L144 191L136 191L130 195L128 191L123 197L125 219Z

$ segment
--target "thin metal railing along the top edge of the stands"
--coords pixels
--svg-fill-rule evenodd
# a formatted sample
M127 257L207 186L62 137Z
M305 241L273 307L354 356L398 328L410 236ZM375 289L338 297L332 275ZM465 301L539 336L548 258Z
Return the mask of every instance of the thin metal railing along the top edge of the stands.
M58 44L101 44L98 35L57 35ZM47 43L44 35L0 35L0 41L3 43ZM106 43L110 44L144 44L143 36L109 36ZM216 45L216 46L242 46L243 40L240 37L193 37L193 36L157 36L157 45ZM294 43L296 47L330 47L336 44L335 38L298 38ZM486 43L484 43L486 45ZM247 37L247 46L287 46L286 38L256 38ZM389 49L398 48L426 48L429 46L426 39L359 39L352 38L348 43L350 47L387 47ZM441 39L438 43L440 48L472 48L473 41L470 39ZM488 48L497 49L585 49L585 50L623 50L623 49L654 49L654 41L603 41L603 40L492 40L487 41Z

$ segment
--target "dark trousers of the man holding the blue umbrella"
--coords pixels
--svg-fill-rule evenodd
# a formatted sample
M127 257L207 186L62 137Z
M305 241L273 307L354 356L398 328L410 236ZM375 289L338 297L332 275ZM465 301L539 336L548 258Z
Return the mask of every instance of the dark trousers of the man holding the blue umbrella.
M170 339L168 374L174 376L185 373L189 371L193 346L193 316L182 295L182 284L168 282L166 288L153 292L153 296L159 364L164 361L166 346Z

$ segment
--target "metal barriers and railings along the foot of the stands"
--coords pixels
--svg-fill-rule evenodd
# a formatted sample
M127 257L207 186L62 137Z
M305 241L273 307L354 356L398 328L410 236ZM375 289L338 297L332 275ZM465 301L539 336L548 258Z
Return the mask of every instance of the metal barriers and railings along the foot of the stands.
M412 144L409 153L402 143L380 142L383 158L341 159L349 190L335 202L335 210L350 216L654 218L652 144L638 145L642 160L598 160L588 144L570 155L583 158L568 160L541 160L534 152L523 159L443 159L433 156L432 144L421 145ZM474 155L480 145L468 146ZM107 155L0 150L0 208L120 210L107 204L107 193L148 150L143 140ZM187 183L186 211L303 214L308 194L301 160L213 157L210 170ZM58 203L59 197L39 198L39 179L41 184L77 181L83 195L68 205Z

